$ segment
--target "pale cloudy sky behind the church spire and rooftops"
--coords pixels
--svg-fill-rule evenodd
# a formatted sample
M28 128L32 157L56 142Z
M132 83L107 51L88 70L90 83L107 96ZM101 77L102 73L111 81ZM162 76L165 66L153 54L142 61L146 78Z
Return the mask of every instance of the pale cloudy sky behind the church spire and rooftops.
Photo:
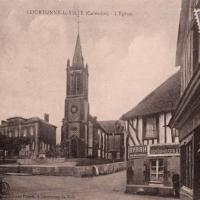
M90 113L98 120L119 119L178 70L180 4L0 0L0 120L49 113L60 142L77 10L84 62L89 65ZM47 14L50 11L54 14Z

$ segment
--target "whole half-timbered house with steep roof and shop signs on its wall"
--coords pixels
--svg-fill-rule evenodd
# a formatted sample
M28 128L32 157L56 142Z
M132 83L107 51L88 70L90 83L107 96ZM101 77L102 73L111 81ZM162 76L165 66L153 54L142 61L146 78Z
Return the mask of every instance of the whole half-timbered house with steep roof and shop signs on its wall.
M179 173L178 132L168 127L180 96L178 71L122 116L127 125L127 190L172 186Z

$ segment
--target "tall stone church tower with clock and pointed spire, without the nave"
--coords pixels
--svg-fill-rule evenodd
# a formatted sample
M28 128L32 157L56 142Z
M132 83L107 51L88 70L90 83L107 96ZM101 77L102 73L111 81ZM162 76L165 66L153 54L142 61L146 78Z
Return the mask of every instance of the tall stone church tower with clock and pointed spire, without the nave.
M72 64L67 60L65 113L61 145L66 157L87 157L88 140L88 65L84 65L79 33Z

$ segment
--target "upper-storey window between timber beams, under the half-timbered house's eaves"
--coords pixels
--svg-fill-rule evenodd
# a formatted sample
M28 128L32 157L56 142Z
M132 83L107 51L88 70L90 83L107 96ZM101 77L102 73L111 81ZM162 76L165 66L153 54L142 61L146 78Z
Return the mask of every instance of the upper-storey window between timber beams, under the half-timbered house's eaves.
M158 137L158 117L148 117L144 119L144 138Z

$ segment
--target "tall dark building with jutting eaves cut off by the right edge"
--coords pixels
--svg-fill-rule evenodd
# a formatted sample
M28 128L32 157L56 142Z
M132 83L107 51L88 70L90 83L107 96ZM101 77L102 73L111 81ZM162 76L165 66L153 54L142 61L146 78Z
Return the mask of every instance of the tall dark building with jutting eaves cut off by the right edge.
M181 199L200 199L200 36L199 0L182 0L176 66L181 98L170 126L180 133Z

